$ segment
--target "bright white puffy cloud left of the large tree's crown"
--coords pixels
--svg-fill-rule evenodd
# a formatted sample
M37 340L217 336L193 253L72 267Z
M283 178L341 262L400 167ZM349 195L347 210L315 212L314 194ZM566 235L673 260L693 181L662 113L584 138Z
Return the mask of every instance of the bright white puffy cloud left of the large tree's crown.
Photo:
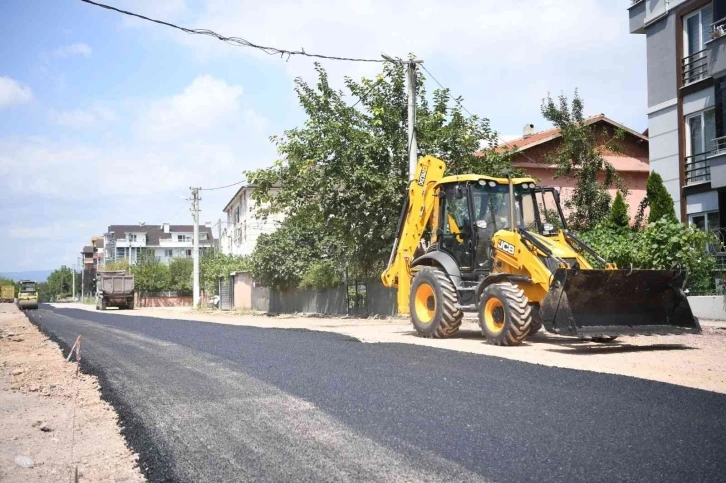
M137 132L143 137L161 140L237 124L242 117L262 122L249 109L243 109L242 92L241 86L229 85L209 75L197 77L181 94L152 103L139 117Z

